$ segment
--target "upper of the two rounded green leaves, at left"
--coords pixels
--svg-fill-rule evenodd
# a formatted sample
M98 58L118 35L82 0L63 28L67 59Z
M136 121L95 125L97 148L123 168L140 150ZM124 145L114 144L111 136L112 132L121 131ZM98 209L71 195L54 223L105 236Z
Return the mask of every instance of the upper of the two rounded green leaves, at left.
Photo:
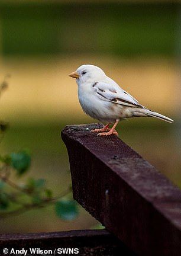
M18 153L11 153L11 166L17 170L18 175L24 174L25 171L30 167L31 157L25 152L21 151Z

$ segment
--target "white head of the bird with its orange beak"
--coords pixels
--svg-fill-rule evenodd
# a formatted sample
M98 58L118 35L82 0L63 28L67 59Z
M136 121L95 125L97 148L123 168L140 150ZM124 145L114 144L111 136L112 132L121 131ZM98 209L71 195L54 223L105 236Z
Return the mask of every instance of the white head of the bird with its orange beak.
M75 72L70 73L72 78L77 79L77 83L86 81L96 81L99 78L105 76L104 71L98 66L94 65L82 65L77 68Z

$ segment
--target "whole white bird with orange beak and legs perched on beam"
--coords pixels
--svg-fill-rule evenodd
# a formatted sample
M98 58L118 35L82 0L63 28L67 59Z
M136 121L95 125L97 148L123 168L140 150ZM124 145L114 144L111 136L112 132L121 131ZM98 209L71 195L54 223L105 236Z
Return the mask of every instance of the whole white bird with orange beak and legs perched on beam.
M129 117L156 117L173 123L169 117L148 110L138 103L98 66L82 65L69 76L76 78L79 102L83 111L93 119L107 123L104 128L91 132L98 132L101 136L118 136L115 127L120 120ZM109 129L111 123L114 125Z

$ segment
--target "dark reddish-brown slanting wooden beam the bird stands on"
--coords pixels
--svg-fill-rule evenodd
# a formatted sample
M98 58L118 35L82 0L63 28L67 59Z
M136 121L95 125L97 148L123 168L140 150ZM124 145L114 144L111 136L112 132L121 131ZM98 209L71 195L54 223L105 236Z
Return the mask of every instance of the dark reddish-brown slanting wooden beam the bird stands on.
M140 255L181 252L181 191L102 124L66 126L73 197ZM154 150L154 149L153 149Z

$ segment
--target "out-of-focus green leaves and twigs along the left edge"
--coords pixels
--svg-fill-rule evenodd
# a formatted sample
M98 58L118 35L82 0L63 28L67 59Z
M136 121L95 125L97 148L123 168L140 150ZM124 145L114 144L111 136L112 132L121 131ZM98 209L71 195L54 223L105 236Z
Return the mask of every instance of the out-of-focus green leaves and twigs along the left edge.
M8 78L9 76L5 76ZM0 84L0 95L8 86L6 79ZM3 137L7 130L7 123L0 121L0 135ZM71 220L77 216L75 201L62 201L61 197L70 193L70 188L59 197L53 197L53 191L46 187L43 178L28 178L25 183L14 183L11 174L17 174L20 179L22 174L28 172L31 165L31 156L27 150L0 155L0 217L20 214L27 210L44 207L46 204L56 203L56 213L62 219ZM60 200L60 201L59 201Z

